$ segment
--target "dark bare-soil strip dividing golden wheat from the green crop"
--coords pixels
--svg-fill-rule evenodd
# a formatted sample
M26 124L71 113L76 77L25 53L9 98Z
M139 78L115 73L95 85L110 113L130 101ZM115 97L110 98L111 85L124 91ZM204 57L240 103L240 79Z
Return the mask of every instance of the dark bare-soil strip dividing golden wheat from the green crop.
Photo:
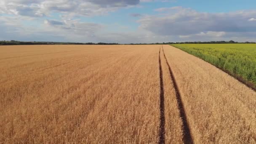
M170 46L173 46L173 45L170 45ZM173 46L174 48L177 48L177 47L175 47L175 46ZM181 51L183 51L182 49L180 49L180 48L178 48L179 50L181 50ZM188 53L187 51L184 51L185 53ZM193 54L191 54L191 53L188 53L188 54L190 54L190 55L192 55L192 56L195 56L195 55L193 55ZM195 57L197 57L197 56L195 56ZM201 59L201 58L199 58L199 57L197 57L198 59ZM202 59L203 61L205 61L204 59ZM211 64L211 63L209 63L208 61L205 61L205 62L207 62L208 64ZM217 69L220 69L222 72L225 72L225 73L227 73L228 75L230 75L231 77L234 77L236 80L238 80L240 83L243 83L244 85L246 85L248 88L251 88L253 91L255 91L256 92L256 85L255 84L253 84L253 83L251 83L251 82L248 82L247 80L245 80L243 77L241 77L241 76L239 76L239 75L236 75L236 74L232 74L231 72L229 72L228 70L226 70L226 69L223 69L223 68L221 68L221 67L218 67L218 66L216 66L216 65L214 65L214 64L211 64L212 66L214 66L214 67L216 67Z

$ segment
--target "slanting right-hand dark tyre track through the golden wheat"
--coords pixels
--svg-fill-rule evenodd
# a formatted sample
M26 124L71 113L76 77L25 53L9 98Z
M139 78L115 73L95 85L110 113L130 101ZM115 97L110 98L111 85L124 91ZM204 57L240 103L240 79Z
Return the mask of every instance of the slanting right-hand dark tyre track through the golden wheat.
M162 50L163 50L163 46L162 46ZM165 56L164 50L163 50L163 55L165 57L165 61L166 61L167 65L168 65L171 80L173 81L173 87L174 87L175 93L176 93L176 100L177 100L177 103L178 103L179 114L180 114L180 117L181 117L181 121L182 121L182 125L183 125L183 132L184 132L182 141L184 142L184 144L193 144L193 139L192 139L189 124L188 124L188 121L187 121L187 116L186 116L186 112L185 112L185 109L184 109L184 104L181 100L181 94L180 94L180 91L179 91L179 87L176 83L176 79L174 77L173 71L171 70L171 66L170 66L170 64L169 64L169 62L168 62L168 60Z

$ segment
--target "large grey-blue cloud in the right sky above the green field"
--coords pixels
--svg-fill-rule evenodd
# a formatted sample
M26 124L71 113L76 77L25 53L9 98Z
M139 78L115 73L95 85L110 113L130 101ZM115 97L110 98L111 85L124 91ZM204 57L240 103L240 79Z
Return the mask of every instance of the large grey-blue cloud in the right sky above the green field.
M248 22L256 15L256 11L200 13L182 7L158 8L155 11L159 14L144 16L138 22L141 29L156 35L184 37L199 34L221 37L227 32L256 32L256 25Z

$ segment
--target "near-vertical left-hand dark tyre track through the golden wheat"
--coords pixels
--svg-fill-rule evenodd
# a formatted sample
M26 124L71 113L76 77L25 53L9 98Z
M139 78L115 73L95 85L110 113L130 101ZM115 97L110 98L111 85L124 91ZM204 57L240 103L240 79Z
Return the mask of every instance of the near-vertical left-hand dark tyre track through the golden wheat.
M158 144L165 144L165 92L163 85L163 69L160 57L161 48L159 49L159 77L160 77L160 127Z

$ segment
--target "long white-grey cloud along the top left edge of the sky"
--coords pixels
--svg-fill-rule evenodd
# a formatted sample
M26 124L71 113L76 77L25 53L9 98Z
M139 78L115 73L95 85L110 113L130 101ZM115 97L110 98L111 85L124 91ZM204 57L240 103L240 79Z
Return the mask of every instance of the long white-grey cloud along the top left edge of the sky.
M35 17L53 12L70 16L95 16L137 4L139 0L1 0L0 12Z

